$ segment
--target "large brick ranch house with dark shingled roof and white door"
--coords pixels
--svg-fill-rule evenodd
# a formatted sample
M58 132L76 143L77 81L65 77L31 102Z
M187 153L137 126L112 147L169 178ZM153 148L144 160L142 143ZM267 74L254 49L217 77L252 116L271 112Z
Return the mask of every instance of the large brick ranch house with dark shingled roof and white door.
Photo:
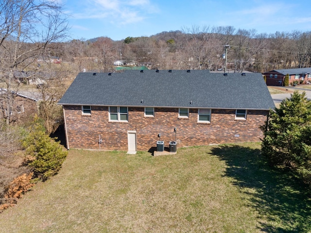
M150 150L259 141L275 104L260 73L126 70L79 73L58 102L67 147Z

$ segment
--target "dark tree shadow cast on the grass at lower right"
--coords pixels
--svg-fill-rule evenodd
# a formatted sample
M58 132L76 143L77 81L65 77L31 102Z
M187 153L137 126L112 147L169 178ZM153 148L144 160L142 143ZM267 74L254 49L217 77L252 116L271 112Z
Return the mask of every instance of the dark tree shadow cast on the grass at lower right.
M251 197L250 205L260 216L266 216L267 221L260 222L262 232L311 232L307 188L289 174L272 169L259 149L223 145L213 148L212 154L226 162L225 176Z

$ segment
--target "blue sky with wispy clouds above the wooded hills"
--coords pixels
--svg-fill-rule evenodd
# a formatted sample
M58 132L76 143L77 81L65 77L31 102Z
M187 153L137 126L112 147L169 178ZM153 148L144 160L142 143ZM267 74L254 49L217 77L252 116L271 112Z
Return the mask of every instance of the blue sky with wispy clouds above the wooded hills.
M192 27L311 31L310 0L58 0L72 39L151 36Z

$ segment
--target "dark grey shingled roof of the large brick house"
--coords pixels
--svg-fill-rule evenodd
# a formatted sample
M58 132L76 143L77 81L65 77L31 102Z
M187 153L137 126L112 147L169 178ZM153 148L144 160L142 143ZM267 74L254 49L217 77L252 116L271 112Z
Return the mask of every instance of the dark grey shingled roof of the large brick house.
M142 100L142 101L141 101ZM192 104L190 104L192 102ZM79 73L62 105L269 109L275 104L260 73L126 70Z

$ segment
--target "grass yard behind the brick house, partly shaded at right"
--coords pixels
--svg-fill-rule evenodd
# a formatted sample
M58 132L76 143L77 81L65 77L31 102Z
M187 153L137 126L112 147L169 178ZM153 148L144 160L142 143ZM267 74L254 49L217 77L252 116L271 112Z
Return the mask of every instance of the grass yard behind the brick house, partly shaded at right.
M63 168L0 217L1 233L311 232L311 199L259 143L176 155L69 150Z

